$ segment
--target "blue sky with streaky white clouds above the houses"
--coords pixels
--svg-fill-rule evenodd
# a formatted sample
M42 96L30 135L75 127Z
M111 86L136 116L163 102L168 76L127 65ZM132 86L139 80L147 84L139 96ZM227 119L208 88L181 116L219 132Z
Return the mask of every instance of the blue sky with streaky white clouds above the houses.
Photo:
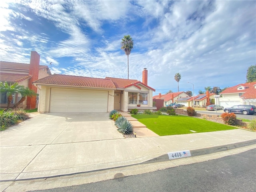
M52 74L127 78L124 35L134 40L129 78L156 92L195 95L246 82L256 64L256 1L2 0L0 60L52 62Z

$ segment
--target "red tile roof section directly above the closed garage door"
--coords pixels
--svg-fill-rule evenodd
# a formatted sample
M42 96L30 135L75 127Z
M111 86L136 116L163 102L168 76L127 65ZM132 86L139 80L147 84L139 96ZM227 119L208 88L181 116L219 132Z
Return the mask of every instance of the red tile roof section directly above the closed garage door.
M98 88L116 88L116 86L110 79L72 76L63 74L53 74L42 79L36 80L34 83L79 87L82 86Z

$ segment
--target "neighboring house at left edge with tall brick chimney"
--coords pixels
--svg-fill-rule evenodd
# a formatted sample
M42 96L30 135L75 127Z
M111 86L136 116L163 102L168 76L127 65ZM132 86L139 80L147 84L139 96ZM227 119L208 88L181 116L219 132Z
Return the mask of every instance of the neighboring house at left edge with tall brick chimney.
M39 94L33 81L51 75L48 66L40 65L40 55L36 51L31 51L30 63L15 63L0 61L0 81L14 84L17 82L24 87L28 87ZM14 106L21 98L20 94L15 94L10 107ZM24 109L34 109L37 107L38 96L28 97L18 107ZM1 108L7 107L6 93L1 93Z

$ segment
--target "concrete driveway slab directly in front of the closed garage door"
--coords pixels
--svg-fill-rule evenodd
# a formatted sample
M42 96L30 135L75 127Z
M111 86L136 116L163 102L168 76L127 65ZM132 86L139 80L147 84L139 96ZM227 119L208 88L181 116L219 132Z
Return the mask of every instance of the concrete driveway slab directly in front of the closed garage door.
M123 138L108 113L38 114L0 134L0 146L61 144Z

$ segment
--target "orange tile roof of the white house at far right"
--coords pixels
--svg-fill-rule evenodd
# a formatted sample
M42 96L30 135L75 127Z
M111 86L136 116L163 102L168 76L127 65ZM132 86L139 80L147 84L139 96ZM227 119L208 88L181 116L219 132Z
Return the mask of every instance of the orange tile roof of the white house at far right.
M244 86L245 89L237 90L239 86ZM255 86L256 86L256 82L242 83L236 86L226 88L224 91L220 92L220 94L244 93L240 97L244 97L245 99L255 99L256 98Z

